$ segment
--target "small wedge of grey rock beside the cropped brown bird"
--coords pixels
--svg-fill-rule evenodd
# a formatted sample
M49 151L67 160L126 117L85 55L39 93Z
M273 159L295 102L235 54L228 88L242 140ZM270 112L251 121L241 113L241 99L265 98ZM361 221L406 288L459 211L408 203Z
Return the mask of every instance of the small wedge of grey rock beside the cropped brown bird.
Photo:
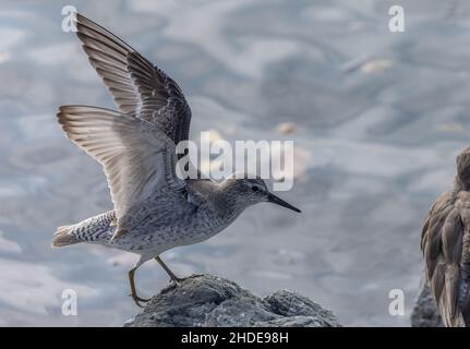
M443 327L437 306L431 296L425 276L421 278L420 290L411 313L412 327Z

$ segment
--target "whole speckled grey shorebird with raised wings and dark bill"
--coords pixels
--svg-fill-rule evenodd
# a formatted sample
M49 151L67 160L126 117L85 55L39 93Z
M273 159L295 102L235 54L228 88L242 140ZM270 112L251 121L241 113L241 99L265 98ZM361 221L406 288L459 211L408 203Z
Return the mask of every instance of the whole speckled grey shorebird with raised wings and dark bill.
M75 25L118 111L62 106L57 116L67 136L103 165L115 209L59 227L53 248L88 242L138 254L129 282L132 299L142 306L148 300L137 296L134 273L143 263L155 258L178 284L182 279L161 261L162 252L215 236L257 203L300 213L260 178L179 178L176 145L189 137L191 109L178 84L85 16L77 13Z

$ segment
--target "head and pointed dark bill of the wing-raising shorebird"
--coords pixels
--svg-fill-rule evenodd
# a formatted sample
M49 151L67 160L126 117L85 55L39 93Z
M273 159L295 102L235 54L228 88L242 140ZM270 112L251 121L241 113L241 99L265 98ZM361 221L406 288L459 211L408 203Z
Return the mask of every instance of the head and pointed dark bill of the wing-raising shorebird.
M260 177L240 177L241 176L232 174L222 183L222 186L231 193L231 200L239 202L240 205L248 207L257 203L268 202L292 209L297 213L301 212L299 208L273 194L267 188L265 181Z

